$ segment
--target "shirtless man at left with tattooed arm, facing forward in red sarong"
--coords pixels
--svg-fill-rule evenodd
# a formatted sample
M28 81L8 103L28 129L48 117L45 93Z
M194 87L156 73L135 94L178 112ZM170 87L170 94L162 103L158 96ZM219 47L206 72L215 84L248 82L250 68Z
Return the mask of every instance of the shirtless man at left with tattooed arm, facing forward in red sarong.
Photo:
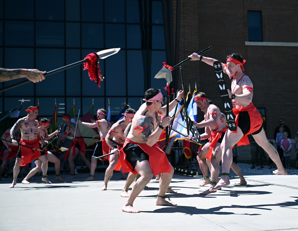
M43 138L40 137L38 131L38 121L36 117L38 116L38 108L30 106L26 109L28 115L20 118L11 128L10 137L13 145L18 145L18 141L14 137L15 131L17 129L21 130L21 144L39 149L39 141L44 145L47 144ZM42 161L42 178L41 180L47 184L51 182L46 177L46 172L48 170L48 158L46 155L41 155L39 150L32 150L30 148L21 146L18 150L17 157L15 159L15 166L13 167L13 183L9 186L13 188L17 184L17 176L20 172L20 166L25 166L27 163L31 163L33 159L39 158Z

